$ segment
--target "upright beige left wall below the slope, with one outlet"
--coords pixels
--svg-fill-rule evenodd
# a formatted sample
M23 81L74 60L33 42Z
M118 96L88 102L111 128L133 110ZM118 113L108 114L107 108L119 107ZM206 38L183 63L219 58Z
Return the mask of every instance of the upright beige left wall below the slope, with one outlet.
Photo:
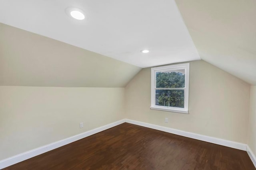
M0 160L124 119L123 104L124 88L0 86Z

